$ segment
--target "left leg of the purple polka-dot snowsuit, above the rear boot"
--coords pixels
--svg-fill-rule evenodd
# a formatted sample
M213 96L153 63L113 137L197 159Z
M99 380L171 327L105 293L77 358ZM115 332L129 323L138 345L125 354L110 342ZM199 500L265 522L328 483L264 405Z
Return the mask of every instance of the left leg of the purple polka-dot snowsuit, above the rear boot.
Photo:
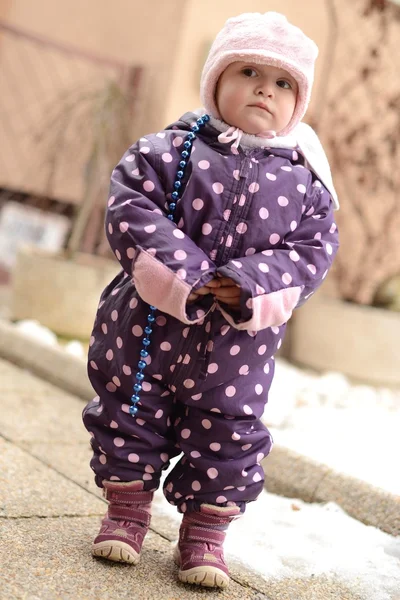
M132 382L118 377L106 383L100 371L91 373L98 393L83 411L83 422L92 435L91 468L99 487L102 481L143 480L145 490L155 490L163 468L180 454L176 447L172 414L177 406L171 391L156 379L143 382L139 414L129 414ZM125 387L125 389L124 389Z

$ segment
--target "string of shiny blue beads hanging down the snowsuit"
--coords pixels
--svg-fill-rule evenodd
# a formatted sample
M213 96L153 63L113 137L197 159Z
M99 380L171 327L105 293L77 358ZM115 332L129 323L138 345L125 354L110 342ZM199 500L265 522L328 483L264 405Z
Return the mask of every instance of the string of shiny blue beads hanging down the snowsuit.
M203 115L199 117L195 125L191 126L191 131L187 136L187 140L183 144L185 149L181 152L182 160L179 162L179 170L176 173L174 182L174 191L171 194L171 202L168 204L167 219L169 219L170 221L175 220L176 203L183 192L181 180L185 175L185 169L190 158L193 141L196 139L196 134L200 131L200 128L203 127L209 120L210 117L208 115ZM131 396L131 405L129 407L129 413L132 415L132 417L134 417L139 410L137 404L138 402L140 402L140 392L142 391L142 381L144 379L143 371L147 366L145 359L149 356L148 348L151 344L151 334L153 333L153 325L156 320L155 312L157 308L155 306L150 305L149 309L150 312L147 315L147 325L144 328L144 338L142 339L143 348L140 351L140 360L138 362L138 371L136 373L136 383L133 386L134 393Z

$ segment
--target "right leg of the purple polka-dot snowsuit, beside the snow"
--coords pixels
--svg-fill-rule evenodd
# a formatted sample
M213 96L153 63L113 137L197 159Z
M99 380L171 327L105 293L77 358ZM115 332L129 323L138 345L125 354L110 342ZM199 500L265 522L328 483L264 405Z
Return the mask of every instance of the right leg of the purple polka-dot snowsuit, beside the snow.
M184 456L169 473L164 494L180 512L199 510L202 503L238 505L261 493L260 461L272 447L268 429L260 421L268 399L274 359L247 375L191 395L177 391L185 405L176 421L176 438ZM246 403L243 404L243 399Z

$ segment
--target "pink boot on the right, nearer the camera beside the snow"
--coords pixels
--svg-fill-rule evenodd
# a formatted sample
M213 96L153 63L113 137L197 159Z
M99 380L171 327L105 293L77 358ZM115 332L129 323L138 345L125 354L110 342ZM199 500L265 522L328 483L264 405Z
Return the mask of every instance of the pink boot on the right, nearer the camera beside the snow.
M228 587L229 571L222 544L225 530L239 512L237 506L202 504L199 512L184 515L174 551L180 581L206 587Z

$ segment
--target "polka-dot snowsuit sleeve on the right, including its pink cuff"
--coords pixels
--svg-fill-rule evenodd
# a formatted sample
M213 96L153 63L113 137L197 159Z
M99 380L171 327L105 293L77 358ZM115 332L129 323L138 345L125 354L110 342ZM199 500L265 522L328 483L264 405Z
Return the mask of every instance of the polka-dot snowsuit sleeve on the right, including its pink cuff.
M310 183L303 216L294 231L285 239L270 239L268 249L231 260L218 269L242 290L239 312L220 306L233 327L260 331L282 325L317 290L339 246L333 210L329 192L319 182Z

